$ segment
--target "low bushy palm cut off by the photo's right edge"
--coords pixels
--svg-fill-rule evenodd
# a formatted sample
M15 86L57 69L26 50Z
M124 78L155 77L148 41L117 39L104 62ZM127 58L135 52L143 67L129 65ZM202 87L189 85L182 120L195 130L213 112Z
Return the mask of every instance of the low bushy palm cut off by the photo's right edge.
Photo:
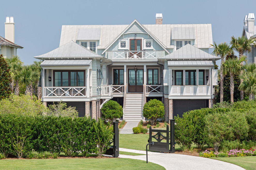
M239 89L249 93L249 100L253 100L256 94L256 64L245 64L238 78L240 80L243 79L243 82L239 85Z

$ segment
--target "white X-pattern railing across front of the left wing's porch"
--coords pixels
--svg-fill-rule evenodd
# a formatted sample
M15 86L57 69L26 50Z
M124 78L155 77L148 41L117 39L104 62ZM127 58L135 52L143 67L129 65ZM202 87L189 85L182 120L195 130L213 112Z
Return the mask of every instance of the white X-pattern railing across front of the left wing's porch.
M87 97L86 87L44 87L44 97Z

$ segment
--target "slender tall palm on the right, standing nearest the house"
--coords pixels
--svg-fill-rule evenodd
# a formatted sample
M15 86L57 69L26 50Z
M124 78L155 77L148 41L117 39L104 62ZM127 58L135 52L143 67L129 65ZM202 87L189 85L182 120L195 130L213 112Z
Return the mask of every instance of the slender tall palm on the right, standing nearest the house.
M216 56L220 56L221 57L221 66L220 66L220 102L223 102L223 84L224 84L224 75L223 75L223 63L225 60L225 56L231 53L231 48L229 47L229 45L224 42L224 43L220 43L220 44L216 44L214 42L214 44L211 44L211 46L214 48L212 54L216 55Z

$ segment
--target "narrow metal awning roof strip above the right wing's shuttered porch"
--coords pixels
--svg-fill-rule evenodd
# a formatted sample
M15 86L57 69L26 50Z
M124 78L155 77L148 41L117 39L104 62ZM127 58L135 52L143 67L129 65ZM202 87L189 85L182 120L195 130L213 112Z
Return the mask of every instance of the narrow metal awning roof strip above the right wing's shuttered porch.
M168 66L214 66L212 61L168 61Z

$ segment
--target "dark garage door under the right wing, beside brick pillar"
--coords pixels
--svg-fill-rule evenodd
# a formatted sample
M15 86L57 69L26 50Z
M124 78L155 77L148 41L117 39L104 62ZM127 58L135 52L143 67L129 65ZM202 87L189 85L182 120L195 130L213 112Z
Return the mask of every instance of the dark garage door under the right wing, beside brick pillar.
M209 107L209 100L173 100L173 116L179 115L182 117L183 113L195 109Z

